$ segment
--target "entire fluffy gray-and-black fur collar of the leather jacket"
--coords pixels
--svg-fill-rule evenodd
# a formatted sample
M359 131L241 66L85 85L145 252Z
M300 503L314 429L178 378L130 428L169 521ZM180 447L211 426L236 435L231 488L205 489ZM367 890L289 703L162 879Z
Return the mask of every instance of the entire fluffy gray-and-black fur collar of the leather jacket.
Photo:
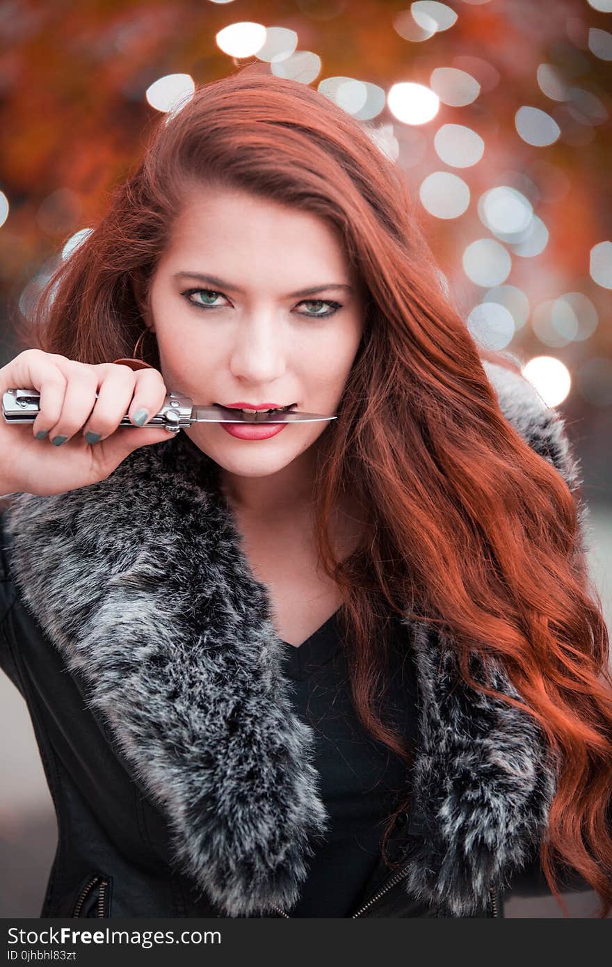
M575 483L561 418L518 375L485 369L510 422ZM19 494L5 517L23 600L162 807L178 867L237 917L293 904L329 816L218 469L181 433L99 484ZM530 717L457 687L452 648L425 626L411 634L426 835L406 889L469 916L536 850L554 773Z

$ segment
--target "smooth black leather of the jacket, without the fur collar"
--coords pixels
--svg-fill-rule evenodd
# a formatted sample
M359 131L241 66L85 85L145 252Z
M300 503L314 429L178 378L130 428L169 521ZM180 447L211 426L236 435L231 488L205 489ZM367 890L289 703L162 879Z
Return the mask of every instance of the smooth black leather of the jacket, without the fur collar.
M173 868L160 808L109 729L87 708L78 677L20 601L4 528L0 548L0 665L27 703L58 822L41 917L224 916ZM408 816L401 814L391 840L393 859L408 861L415 841ZM390 870L381 856L352 916L435 916L429 904L405 893L402 872Z

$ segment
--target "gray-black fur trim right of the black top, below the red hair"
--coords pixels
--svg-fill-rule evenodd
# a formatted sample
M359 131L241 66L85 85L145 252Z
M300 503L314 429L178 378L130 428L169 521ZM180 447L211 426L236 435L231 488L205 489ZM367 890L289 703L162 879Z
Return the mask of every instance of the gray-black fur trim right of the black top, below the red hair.
M406 890L445 916L477 916L491 887L503 889L535 856L555 792L552 763L533 718L460 680L448 638L420 624L413 644L423 689L413 808L425 830ZM492 660L487 667L491 688L519 697ZM470 672L486 684L476 657Z

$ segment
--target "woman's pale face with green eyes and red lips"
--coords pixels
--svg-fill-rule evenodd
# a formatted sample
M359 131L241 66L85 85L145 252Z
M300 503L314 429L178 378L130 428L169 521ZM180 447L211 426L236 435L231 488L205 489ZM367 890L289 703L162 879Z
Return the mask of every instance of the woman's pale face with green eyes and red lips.
M364 322L358 280L327 222L245 191L193 190L150 300L168 391L205 405L337 412ZM287 423L260 440L219 423L183 432L229 475L258 478L306 454L329 426Z

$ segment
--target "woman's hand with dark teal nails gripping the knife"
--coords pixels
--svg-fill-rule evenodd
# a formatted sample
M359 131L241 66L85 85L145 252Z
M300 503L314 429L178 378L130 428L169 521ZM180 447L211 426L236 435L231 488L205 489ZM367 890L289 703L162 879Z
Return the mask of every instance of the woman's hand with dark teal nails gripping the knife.
M168 392L152 367L134 372L114 363L90 366L25 349L0 368L0 395L12 388L37 390L40 413L33 424L0 419L1 494L63 493L96 484L133 450L169 436L163 426L146 426ZM119 426L126 414L138 426L138 410L147 411L142 429ZM100 434L99 441L86 433Z

